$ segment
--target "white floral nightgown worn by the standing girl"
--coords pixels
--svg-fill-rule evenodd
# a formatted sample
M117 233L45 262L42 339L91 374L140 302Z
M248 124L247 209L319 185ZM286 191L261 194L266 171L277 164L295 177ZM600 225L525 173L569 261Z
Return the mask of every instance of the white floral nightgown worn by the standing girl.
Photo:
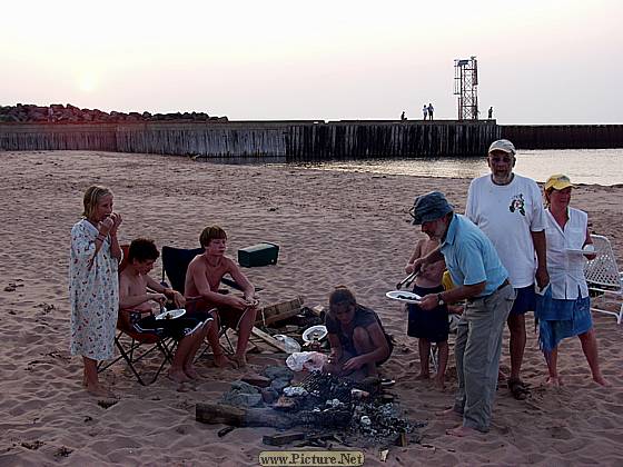
M115 328L119 310L118 262L110 256L110 239L92 266L98 230L82 219L71 228L69 301L71 304L71 355L105 360L115 354Z

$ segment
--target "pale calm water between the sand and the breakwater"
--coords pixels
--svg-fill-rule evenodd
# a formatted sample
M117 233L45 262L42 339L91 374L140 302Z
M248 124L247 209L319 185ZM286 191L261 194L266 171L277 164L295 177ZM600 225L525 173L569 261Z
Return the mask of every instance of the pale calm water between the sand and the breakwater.
M565 173L574 183L623 183L623 149L522 150L515 171L543 182L553 173ZM443 178L474 178L488 173L486 158L365 159L296 166L362 171L385 175L411 175Z

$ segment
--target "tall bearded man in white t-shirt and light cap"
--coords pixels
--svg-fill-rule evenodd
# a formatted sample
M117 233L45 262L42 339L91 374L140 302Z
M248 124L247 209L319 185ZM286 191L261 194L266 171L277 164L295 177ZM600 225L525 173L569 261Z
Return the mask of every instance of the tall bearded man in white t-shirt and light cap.
M506 139L488 148L491 175L472 180L465 215L492 240L508 271L516 298L508 315L511 376L508 388L516 399L527 389L520 378L526 342L525 312L534 311L534 281L550 282L545 254L545 212L536 182L513 173L515 147Z

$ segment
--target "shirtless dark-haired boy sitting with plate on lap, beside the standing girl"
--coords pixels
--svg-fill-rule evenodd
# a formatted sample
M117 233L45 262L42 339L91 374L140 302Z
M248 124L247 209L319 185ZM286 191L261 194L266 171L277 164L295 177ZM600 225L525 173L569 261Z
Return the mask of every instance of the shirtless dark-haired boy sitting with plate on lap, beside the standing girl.
M167 298L172 299L178 308L185 304L181 294L165 288L149 277L159 256L152 240L138 238L130 244L128 264L119 275L119 319L127 327L165 329L168 336L176 339L178 347L169 369L169 378L176 382L186 382L198 378L192 360L208 329L214 327L210 326L212 318L207 314L197 314L192 317L156 321L152 314L155 304L161 306Z

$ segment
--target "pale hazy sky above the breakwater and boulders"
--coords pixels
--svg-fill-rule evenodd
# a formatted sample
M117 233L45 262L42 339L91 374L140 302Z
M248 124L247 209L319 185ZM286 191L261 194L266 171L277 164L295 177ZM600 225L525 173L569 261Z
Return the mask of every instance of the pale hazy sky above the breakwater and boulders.
M614 0L22 1L3 4L0 105L231 120L454 119L454 59L482 116L623 123Z

